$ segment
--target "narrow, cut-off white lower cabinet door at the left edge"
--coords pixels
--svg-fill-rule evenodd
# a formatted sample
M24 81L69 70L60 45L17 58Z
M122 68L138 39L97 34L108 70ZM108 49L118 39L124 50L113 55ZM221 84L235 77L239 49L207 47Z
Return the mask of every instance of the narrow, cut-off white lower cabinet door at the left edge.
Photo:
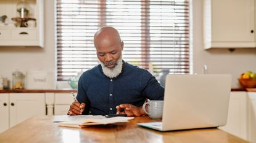
M9 94L0 94L0 133L9 129Z

